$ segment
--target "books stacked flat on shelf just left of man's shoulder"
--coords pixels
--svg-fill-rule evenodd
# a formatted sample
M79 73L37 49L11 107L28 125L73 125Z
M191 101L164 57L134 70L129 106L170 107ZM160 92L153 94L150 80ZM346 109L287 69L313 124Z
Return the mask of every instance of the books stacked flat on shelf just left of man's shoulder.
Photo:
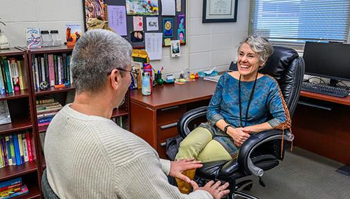
M38 126L48 125L60 109L62 105L53 98L37 100Z

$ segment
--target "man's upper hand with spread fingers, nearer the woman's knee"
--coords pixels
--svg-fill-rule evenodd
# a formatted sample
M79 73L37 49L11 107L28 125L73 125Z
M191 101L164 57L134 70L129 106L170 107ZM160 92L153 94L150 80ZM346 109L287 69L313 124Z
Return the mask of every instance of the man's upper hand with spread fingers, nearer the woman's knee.
M190 183L191 181L190 178L183 175L182 172L190 169L201 168L201 167L203 167L203 165L201 164L201 161L194 160L194 158L170 161L169 176L172 176L174 178L179 178L187 183Z

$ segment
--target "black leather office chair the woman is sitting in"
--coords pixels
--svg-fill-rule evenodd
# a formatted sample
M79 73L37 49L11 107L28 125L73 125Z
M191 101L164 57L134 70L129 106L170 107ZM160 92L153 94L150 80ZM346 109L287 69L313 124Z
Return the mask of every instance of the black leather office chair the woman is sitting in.
M280 46L273 48L273 55L260 72L276 78L290 114L293 116L304 77L304 60L290 48ZM206 113L207 107L199 107L183 114L178 120L179 134L185 138L198 126L199 121L203 122L203 119L206 121ZM279 160L284 158L287 142L284 142L282 148L282 138L287 141L292 141L294 138L288 129L284 130L284 136L282 134L282 130L278 129L253 134L241 145L236 160L204 163L203 167L197 169L196 176L206 180L230 182L229 198L233 199L236 196L255 198L241 192L243 189L249 190L252 187L252 180L243 180L239 183L236 183L236 180L255 175L259 176L260 185L264 186L264 181L261 179L264 171L276 167Z

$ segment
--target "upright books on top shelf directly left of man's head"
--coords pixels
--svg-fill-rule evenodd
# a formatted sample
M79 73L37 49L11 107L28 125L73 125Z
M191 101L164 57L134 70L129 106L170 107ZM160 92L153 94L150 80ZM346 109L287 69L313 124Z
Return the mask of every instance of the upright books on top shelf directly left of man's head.
M46 83L48 86L70 85L73 83L71 76L71 55L69 54L33 55L32 65L36 90L43 83Z

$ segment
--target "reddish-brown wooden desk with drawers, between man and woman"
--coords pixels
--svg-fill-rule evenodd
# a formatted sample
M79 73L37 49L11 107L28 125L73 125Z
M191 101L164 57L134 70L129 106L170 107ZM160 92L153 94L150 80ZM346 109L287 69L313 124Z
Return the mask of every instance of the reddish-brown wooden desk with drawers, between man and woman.
M178 118L187 110L208 105L216 85L201 79L184 85L156 85L150 96L142 96L141 90L132 90L131 132L165 158L165 139L178 135Z

